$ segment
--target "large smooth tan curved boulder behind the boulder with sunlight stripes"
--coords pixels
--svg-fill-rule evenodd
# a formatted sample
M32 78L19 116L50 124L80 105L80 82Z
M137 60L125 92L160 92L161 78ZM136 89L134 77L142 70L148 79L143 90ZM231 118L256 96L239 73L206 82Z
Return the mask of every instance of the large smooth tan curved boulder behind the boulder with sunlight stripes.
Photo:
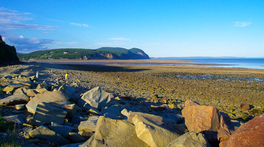
M28 109L28 112L35 113L37 105L40 102L55 102L55 101L69 101L69 97L66 96L63 92L44 92L39 93L35 97L33 97L28 104L26 104L26 107Z

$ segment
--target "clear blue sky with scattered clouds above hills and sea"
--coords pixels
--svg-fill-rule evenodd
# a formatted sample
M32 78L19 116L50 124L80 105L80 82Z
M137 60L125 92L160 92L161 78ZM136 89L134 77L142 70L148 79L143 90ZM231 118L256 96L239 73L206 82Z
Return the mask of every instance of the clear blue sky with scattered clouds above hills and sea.
M150 57L264 57L264 1L10 1L0 35L17 52L140 48Z

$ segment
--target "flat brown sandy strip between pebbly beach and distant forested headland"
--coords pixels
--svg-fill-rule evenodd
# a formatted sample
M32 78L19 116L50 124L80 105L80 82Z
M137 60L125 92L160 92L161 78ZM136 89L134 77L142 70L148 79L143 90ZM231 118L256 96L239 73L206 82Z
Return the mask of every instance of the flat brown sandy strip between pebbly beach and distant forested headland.
M231 64L202 64L192 63L190 60L28 60L22 62L40 62L40 63L90 63L90 64L140 64L140 65L200 65L200 66L228 66Z

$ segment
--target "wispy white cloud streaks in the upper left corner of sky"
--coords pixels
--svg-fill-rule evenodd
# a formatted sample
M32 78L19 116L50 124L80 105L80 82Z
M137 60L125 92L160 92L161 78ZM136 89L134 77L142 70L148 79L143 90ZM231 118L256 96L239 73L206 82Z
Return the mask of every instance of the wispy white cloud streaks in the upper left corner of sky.
M30 21L36 16L29 12L18 12L7 8L0 8L0 29L35 29L35 30L53 30L55 26L37 25L24 23Z

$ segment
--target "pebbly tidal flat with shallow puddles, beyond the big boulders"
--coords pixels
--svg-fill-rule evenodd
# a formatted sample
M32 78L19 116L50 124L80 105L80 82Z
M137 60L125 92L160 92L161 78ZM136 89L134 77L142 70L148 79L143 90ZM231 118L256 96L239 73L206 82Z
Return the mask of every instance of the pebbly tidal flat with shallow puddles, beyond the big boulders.
M129 95L151 105L183 105L186 99L216 106L231 118L249 112L242 102L263 111L264 70L167 65L57 65L29 62L1 69L1 75L35 75L42 82L56 81L68 73L69 84L90 90L100 86L116 96ZM120 80L117 80L120 75ZM153 95L157 95L155 97ZM150 106L149 106L150 107ZM146 107L147 109L147 107Z

